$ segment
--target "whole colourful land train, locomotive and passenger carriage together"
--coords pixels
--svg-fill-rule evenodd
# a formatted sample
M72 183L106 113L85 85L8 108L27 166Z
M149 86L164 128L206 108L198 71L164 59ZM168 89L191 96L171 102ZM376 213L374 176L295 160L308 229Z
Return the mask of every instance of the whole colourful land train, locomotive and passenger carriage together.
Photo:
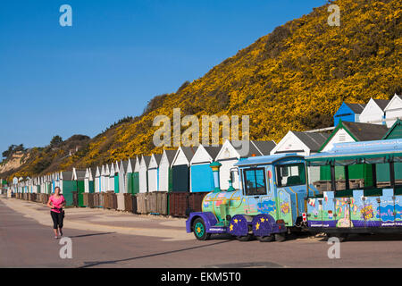
M230 233L238 240L283 241L292 231L402 232L402 139L334 144L312 156L281 154L239 161L240 189L215 189L191 213L197 240Z

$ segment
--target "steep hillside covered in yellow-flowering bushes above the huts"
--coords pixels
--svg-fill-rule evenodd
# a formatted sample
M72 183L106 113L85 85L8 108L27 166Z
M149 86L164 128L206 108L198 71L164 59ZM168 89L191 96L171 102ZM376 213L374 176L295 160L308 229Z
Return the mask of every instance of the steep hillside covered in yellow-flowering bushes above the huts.
M340 26L327 23L328 5L289 21L240 50L177 92L153 98L144 114L89 141L56 167L86 167L160 149L153 145L156 115L250 116L251 139L279 141L288 130L332 125L343 101L389 99L402 91L399 0L339 0ZM40 156L40 155L38 155ZM50 169L42 170L42 172ZM32 164L18 172L32 174Z

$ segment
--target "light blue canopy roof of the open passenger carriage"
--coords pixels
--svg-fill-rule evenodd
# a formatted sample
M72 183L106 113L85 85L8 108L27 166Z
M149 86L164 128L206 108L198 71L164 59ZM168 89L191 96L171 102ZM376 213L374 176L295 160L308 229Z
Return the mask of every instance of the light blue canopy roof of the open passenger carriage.
M402 139L387 139L374 141L361 141L351 143L336 143L331 150L306 156L307 162L329 162L329 161L349 161L345 164L373 164L381 163L374 162L373 158L382 157L389 161L396 160L399 162L402 158ZM358 162L356 162L356 160Z

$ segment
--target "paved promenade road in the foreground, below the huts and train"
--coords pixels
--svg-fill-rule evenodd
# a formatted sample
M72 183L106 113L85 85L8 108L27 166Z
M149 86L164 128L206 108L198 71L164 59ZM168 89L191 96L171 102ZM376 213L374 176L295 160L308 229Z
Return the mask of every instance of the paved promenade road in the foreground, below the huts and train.
M320 237L241 242L221 235L197 241L185 220L67 208L64 235L72 258L59 255L46 206L0 196L0 267L400 267L402 235L355 235L340 258Z

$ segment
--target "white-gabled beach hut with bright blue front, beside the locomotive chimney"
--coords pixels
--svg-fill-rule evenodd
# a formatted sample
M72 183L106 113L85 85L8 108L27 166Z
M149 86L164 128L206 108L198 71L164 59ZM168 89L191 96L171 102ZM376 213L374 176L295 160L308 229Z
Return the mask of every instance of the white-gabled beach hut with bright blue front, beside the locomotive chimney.
M212 191L214 175L209 164L214 162L222 146L200 145L190 161L190 192Z

